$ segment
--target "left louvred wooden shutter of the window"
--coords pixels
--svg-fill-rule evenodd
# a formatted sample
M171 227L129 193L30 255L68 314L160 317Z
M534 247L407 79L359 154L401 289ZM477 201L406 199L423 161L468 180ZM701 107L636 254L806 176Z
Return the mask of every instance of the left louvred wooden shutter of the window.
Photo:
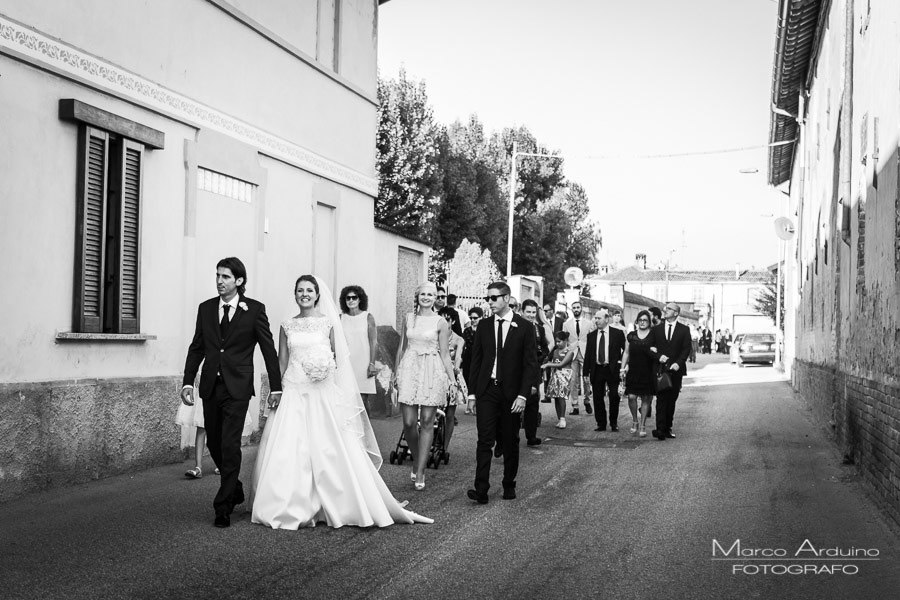
M106 240L106 167L109 135L82 126L78 132L78 213L75 235L74 326L82 333L103 327L103 256Z

